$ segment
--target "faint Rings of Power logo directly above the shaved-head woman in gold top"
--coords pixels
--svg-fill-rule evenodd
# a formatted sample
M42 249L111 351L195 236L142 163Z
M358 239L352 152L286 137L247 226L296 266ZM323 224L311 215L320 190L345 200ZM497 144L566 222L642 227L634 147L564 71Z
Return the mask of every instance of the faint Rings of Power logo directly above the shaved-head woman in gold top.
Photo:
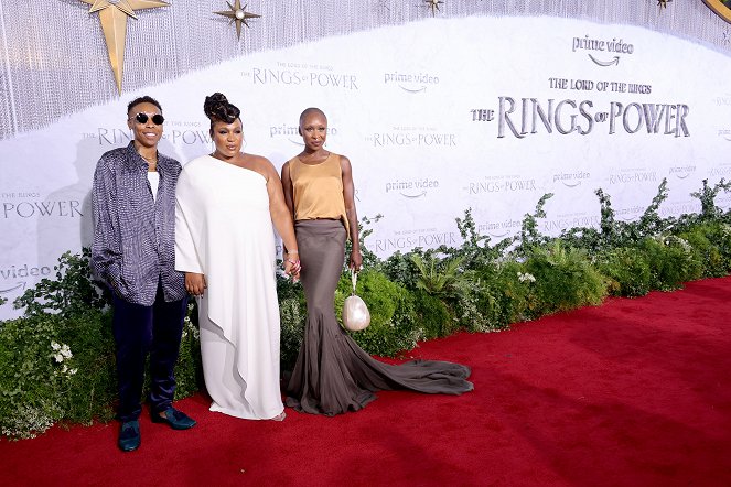
M333 66L300 63L277 63L277 67L255 67L241 73L255 85L307 86L329 89L358 90L358 77L352 73L336 73Z

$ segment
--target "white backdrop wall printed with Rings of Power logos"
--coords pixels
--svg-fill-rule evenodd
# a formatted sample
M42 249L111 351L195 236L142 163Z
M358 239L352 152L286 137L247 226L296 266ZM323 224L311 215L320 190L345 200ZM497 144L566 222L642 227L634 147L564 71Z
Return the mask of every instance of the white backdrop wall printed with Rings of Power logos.
M23 2L0 4L6 26L8 3L28 9ZM189 10L223 10L214 3ZM540 223L549 235L596 225L593 192L599 187L612 196L617 216L631 220L667 177L670 196L662 213L697 212L699 203L689 193L703 178L716 183L731 174L731 162L722 156L731 141L731 91L723 87L731 68L728 52L708 39L562 18L567 11L549 12L560 18L527 15L527 10L498 17L463 9L413 20L394 17L396 2L378 3L390 12L381 26L329 15L324 28L313 26L320 35L292 31L276 48L265 48L259 36L281 33L277 11L266 12L279 26L265 14L251 22L240 44L233 26L203 15L215 35L186 39L179 50L203 58L232 44L259 42L260 48L229 53L215 64L201 62L197 68L171 67L170 57L154 48L128 50L120 97L108 95L116 88L103 43L94 59L85 58L88 46L66 53L72 55L64 62L82 73L76 80L66 78L57 62L49 61L47 69L29 66L28 79L49 86L53 97L10 95L0 104L14 107L10 116L3 111L11 123L3 126L0 140L0 295L13 300L52 277L63 251L89 245L96 161L128 143L126 106L143 94L163 105L161 151L183 163L212 150L202 106L214 91L241 108L245 151L277 166L301 150L301 110L321 107L330 119L327 148L353 162L359 214L384 215L365 242L381 257L418 246L459 245L454 218L467 207L483 234L493 240L509 237L545 193L555 193ZM463 2L447 2L447 12L454 13L458 3ZM342 4L356 15L355 2ZM329 2L318 6L330 8ZM248 10L257 12L256 7L251 2ZM282 10L290 23L307 24L292 9ZM89 44L101 37L98 20L78 20L86 13L76 2L61 2L58 10L66 29L77 25L94 40ZM706 10L695 14L721 29ZM165 42L150 28L153 18L140 13L130 23L129 47L136 39L131 25L138 23L148 25L136 29L149 32L149 42ZM18 53L10 55L7 35L4 42L10 65ZM88 69L96 75L93 84L82 83ZM55 77L58 71L65 74ZM151 80L150 73L159 77ZM3 79L0 85L7 87ZM65 110L54 111L60 105ZM717 202L729 207L730 198ZM0 307L0 318L14 315L11 306Z

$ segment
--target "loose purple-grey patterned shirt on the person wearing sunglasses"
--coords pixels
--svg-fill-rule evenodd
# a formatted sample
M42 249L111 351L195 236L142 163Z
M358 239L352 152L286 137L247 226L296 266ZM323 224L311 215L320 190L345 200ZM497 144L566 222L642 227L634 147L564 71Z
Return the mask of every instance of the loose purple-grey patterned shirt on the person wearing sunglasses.
M148 163L130 142L106 152L94 173L92 267L121 299L154 303L158 283L164 299L186 295L175 266L175 185L180 162L158 154L157 198L147 177Z

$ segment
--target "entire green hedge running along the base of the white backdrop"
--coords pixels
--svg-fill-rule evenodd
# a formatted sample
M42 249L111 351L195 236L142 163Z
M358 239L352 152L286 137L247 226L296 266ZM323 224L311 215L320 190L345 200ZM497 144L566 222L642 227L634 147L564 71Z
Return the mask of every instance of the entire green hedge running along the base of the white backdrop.
M493 244L479 235L471 210L456 218L460 247L416 248L385 260L367 249L358 294L368 304L370 326L353 338L369 354L397 356L419 340L458 331L497 332L512 323L600 304L606 295L641 296L679 289L684 282L731 271L731 212L714 204L731 184L703 181L691 196L701 213L662 218L667 198L663 181L635 221L614 219L611 199L595 192L599 228L571 228L558 237L538 231L541 197L520 231ZM56 422L108 421L114 414L116 378L109 295L89 273L89 251L66 252L55 279L43 279L14 302L24 314L0 322L0 433L32 437ZM335 309L351 293L343 272ZM307 305L300 284L279 278L282 370L291 369L302 342ZM0 304L4 300L0 299ZM8 304L6 304L8 305ZM340 313L336 313L340 314ZM340 317L338 317L340 320ZM189 306L176 366L176 398L203 387L196 310Z

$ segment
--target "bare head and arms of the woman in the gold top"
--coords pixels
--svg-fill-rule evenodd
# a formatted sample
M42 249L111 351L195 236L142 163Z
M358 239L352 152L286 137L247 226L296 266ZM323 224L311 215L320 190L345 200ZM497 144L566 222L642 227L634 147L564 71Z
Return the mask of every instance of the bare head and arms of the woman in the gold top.
M325 139L327 138L327 118L319 110L305 112L300 120L300 136L304 141L304 150L300 152L298 159L303 164L316 165L330 156L325 150ZM355 209L355 186L353 184L353 170L351 161L341 155L341 175L343 180L343 201L345 203L345 217L350 226L350 237L352 241L350 268L359 271L363 267L363 256L361 255L361 242L358 240L358 215ZM289 174L289 162L284 163L281 171L281 181L284 188L284 201L290 213L294 214L294 198L292 180Z

